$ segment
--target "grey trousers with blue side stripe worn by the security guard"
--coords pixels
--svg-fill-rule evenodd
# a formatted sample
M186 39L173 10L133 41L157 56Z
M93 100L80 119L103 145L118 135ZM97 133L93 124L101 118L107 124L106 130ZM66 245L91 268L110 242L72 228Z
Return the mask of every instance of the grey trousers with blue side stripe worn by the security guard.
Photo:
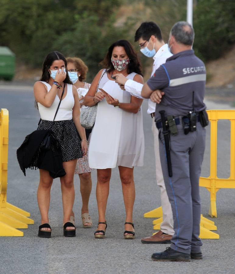
M205 129L200 123L197 131L184 134L177 126L178 135L170 136L170 156L173 176L169 178L166 148L163 135L160 134L160 160L167 195L174 218L174 235L171 248L179 252L200 252L202 241L200 234L200 195L199 177L205 149ZM160 131L161 132L161 131ZM177 243L177 246L176 246Z

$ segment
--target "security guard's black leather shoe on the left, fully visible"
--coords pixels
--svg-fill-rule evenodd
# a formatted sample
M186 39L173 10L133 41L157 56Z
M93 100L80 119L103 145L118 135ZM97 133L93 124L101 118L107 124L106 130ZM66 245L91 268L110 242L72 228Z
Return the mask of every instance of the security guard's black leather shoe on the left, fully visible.
M167 248L163 252L153 253L152 260L161 262L190 262L190 254Z

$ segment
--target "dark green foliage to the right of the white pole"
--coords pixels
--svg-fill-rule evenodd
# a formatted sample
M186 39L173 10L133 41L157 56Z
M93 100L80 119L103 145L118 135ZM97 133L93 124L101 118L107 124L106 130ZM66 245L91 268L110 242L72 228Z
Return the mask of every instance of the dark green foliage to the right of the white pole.
M194 48L206 61L235 43L235 1L198 0L194 13Z

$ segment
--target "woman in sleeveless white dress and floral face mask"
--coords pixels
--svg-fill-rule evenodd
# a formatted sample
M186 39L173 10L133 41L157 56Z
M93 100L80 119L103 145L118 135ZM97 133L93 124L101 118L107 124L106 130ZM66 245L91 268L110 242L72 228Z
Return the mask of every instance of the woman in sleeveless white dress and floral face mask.
M95 238L105 237L105 212L111 168L118 166L126 209L124 238L134 239L133 169L135 166L143 166L144 156L142 99L121 90L112 75L122 73L128 79L143 83L141 65L132 45L127 40L119 40L109 47L103 68L84 97L85 106L98 103L89 145L89 166L97 169L96 199L99 223Z

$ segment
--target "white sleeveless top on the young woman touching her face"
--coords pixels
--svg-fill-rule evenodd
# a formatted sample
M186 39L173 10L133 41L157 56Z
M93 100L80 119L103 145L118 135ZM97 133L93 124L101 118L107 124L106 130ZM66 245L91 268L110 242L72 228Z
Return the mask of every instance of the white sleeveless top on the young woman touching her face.
M49 92L51 89L51 86L46 82L43 82L43 81L40 81L40 82L47 86L47 92ZM41 119L53 121L59 102L60 102L60 99L58 95L56 95L55 100L53 104L51 105L51 107L44 107L42 104L37 103ZM72 85L67 84L67 94L65 98L61 101L59 110L55 117L55 121L71 120L73 106L74 106L74 97L72 92Z

